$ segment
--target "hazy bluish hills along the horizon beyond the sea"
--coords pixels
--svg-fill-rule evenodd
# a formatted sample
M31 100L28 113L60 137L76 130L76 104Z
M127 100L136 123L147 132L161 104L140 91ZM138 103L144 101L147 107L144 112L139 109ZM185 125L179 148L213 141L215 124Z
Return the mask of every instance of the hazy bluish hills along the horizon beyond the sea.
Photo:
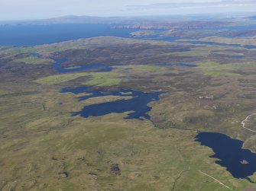
M0 25L18 24L170 24L180 21L233 21L237 18L255 20L251 15L226 15L226 14L190 14L190 15L166 15L166 16L144 16L144 17L92 17L68 15L60 18L37 19L30 21L0 21ZM225 23L226 24L226 23Z

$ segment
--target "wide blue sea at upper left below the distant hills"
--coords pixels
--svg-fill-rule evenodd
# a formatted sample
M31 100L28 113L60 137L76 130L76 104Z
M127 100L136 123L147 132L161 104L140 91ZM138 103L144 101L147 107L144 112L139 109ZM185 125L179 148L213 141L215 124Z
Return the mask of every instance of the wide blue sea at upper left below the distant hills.
M0 26L1 46L35 46L99 36L129 37L133 29L110 24L37 24Z

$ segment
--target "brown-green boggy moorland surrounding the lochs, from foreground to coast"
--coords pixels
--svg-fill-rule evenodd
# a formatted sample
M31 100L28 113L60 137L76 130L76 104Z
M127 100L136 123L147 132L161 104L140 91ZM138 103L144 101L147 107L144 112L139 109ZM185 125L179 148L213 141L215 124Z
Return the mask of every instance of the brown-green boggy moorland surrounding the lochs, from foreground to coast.
M31 53L42 58L28 58ZM231 56L241 54L242 59ZM52 68L56 58L68 59L67 67L106 63L113 70L60 75ZM194 142L197 131L223 132L256 151L255 133L241 125L256 113L254 50L99 37L2 47L0 59L1 190L255 187L233 178L209 158L211 149ZM151 121L125 120L128 113L86 119L70 113L123 98L79 102L84 94L60 93L61 88L84 85L165 93L150 103ZM245 125L254 129L254 117Z

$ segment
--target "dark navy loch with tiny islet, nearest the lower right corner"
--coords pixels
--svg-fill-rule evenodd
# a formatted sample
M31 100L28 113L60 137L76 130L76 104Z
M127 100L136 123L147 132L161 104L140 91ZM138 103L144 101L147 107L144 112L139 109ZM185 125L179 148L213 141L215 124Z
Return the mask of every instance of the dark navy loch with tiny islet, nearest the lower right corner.
M218 158L215 163L226 167L233 177L247 178L256 172L256 154L243 149L244 142L216 132L199 132L196 142L212 148L215 154L211 158Z

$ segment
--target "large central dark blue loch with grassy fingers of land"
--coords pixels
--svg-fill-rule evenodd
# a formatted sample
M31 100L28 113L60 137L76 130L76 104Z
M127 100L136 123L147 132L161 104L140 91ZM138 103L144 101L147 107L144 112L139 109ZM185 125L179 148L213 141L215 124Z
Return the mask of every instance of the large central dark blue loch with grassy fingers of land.
M90 97L102 97L106 95L132 96L133 98L130 100L116 100L107 103L97 103L86 106L83 108L83 110L73 113L73 116L80 115L83 117L89 117L104 116L109 113L125 113L132 111L132 113L130 113L126 119L150 119L150 116L147 114L147 112L151 110L151 107L147 106L147 104L152 101L159 100L160 94L163 94L163 92L145 93L142 91L134 90L99 91L92 90L88 87L63 88L61 92L72 92L73 94L91 94L86 97L80 97L79 101L89 99Z

